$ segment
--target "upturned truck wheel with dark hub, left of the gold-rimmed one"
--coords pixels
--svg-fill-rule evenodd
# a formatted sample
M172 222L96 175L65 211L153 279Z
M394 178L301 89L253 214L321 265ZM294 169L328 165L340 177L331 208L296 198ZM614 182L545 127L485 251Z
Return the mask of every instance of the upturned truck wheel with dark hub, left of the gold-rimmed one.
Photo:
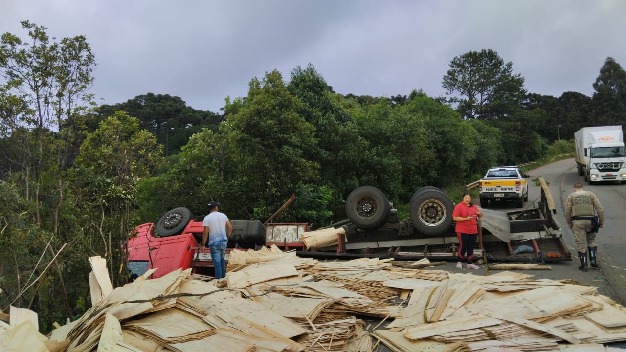
M381 190L372 186L361 186L346 199L346 216L359 229L379 229L389 219L391 207Z

